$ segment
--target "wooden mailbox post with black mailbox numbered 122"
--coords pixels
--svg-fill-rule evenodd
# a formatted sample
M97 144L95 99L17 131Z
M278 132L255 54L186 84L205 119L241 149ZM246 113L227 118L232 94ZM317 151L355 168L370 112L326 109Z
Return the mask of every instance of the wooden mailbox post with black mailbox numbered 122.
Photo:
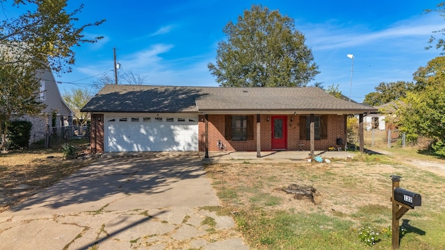
M422 197L420 194L399 188L401 176L391 175L392 181L392 249L399 249L399 220L408 210L414 209L415 206L422 206Z

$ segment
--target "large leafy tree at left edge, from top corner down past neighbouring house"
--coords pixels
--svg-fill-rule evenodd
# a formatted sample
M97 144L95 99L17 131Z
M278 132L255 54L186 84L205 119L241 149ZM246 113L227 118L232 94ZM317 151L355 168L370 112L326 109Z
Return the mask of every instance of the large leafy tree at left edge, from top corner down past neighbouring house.
M0 0L3 3L8 0ZM26 8L24 8L26 6ZM94 24L79 24L75 15L83 6L67 12L67 0L15 0L22 15L0 22L0 133L1 147L6 141L12 114L36 115L44 108L37 101L38 73L51 68L61 74L70 72L75 62L72 47L100 38L86 39L83 31Z

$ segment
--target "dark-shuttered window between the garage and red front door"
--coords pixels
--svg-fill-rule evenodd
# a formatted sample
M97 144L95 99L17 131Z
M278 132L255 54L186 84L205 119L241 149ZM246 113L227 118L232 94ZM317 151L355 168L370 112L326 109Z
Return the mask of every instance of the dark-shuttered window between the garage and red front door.
M226 115L225 139L234 141L253 140L253 116Z

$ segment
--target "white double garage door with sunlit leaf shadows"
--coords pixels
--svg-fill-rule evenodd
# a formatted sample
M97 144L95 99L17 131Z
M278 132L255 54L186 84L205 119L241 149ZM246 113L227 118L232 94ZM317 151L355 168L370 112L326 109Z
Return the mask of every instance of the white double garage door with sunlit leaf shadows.
M197 123L108 123L106 151L197 151L197 130Z

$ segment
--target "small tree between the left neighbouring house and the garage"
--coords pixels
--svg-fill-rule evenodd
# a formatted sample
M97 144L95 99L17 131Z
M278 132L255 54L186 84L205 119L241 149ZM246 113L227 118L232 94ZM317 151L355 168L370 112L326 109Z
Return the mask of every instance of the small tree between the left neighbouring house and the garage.
M65 91L62 98L67 105L72 109L74 119L80 126L86 126L90 113L81 112L81 108L92 99L93 94L87 89L76 88L71 92Z

